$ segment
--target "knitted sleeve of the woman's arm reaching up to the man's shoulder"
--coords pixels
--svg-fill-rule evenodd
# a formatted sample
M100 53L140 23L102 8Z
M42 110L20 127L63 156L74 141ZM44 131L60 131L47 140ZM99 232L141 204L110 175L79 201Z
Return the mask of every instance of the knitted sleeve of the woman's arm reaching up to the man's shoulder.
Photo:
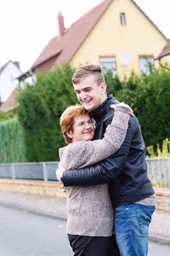
M82 168L93 165L116 153L126 137L129 118L127 109L119 107L102 139L69 144L63 152L61 151L62 153L59 153L61 164L65 166L66 170Z

